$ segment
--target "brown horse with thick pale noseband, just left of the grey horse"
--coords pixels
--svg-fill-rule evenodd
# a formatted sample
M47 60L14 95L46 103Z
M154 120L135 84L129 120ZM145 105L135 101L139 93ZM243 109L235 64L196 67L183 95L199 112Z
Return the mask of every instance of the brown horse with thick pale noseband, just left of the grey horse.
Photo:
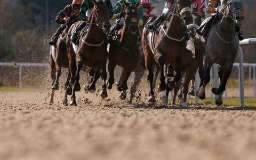
M149 31L146 28L143 29L142 47L143 52L145 53L146 68L148 71L148 80L150 84L149 102L155 102L155 95L152 85L154 78L154 59L159 64L161 69L161 82L158 86L159 91L164 91L166 89L164 65L169 66L170 64L173 66L175 71L172 79L173 82L179 81L181 78L181 71L185 71L187 69L188 73L193 74L194 69L189 67L191 59L193 59L193 53L190 49L188 49L189 47L184 39L185 30L182 26L183 19L190 20L191 18L190 5L190 0L177 1L174 12L176 14L172 14L171 19L167 20L164 25L161 25L158 34L153 33L150 36ZM178 13L181 14L178 15ZM150 39L150 37L155 38ZM155 47L153 44L154 41ZM191 68L191 70L188 68ZM187 92L186 90L188 90L187 87L185 87L185 94ZM184 99L184 102L186 102L186 98ZM186 103L184 103L184 106L187 106Z

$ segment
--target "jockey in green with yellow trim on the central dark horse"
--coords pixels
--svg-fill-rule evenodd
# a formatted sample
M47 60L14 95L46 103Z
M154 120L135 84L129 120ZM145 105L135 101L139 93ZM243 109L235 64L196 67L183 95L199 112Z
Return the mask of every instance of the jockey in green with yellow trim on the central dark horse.
M124 1L126 1L127 3L137 3L138 0L119 0L116 2L115 4L115 7L114 7L114 15L113 17L110 19L110 20L115 20L117 18L120 18L121 20L119 20L118 23L115 24L115 26L109 31L109 34L108 34L108 40L113 36L113 33L116 31L116 30L119 30L123 25L124 25L124 12L125 12L125 4L124 4ZM138 25L139 26L142 26L143 25L143 9L142 9L142 6L141 4L139 4L138 6L138 10L139 10L139 22L138 22Z

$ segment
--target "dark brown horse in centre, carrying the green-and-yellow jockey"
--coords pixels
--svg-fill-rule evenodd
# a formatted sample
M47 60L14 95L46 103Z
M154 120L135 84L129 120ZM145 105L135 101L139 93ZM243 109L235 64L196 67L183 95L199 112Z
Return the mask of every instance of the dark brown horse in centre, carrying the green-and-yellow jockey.
M134 4L127 4L125 10L125 22L121 30L119 30L120 39L114 37L111 39L109 44L109 79L108 79L108 89L112 88L114 84L114 70L116 65L123 68L121 77L116 83L117 90L121 92L119 98L121 100L126 99L127 80L131 75L131 72L137 67L140 57L140 51L137 44L137 39L139 36L138 31L138 21L139 21L139 11L138 5L139 1Z

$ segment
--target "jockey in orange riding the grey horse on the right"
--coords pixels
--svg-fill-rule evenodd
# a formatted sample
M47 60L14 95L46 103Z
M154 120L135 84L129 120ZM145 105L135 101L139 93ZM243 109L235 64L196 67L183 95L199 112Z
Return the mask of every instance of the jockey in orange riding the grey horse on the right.
M219 6L221 6L221 1L220 0L210 0L207 7L206 7L206 12L207 13L211 13L212 17L209 21L207 21L205 23L205 26L200 30L197 31L197 33L201 36L203 35L207 35L209 29L211 28L211 26L216 22L216 20L219 19L221 13L219 13ZM242 13L245 13L245 10L243 8ZM237 36L239 38L240 41L242 41L244 39L243 34L240 32L241 26L236 25L236 32L237 32Z

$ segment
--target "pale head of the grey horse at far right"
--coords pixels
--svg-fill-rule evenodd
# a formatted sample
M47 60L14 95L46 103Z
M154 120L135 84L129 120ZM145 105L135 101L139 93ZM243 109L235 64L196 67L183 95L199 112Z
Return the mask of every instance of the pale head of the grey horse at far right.
M241 26L244 19L242 14L243 2L241 0L221 0L221 5L225 9L224 14L238 26Z

